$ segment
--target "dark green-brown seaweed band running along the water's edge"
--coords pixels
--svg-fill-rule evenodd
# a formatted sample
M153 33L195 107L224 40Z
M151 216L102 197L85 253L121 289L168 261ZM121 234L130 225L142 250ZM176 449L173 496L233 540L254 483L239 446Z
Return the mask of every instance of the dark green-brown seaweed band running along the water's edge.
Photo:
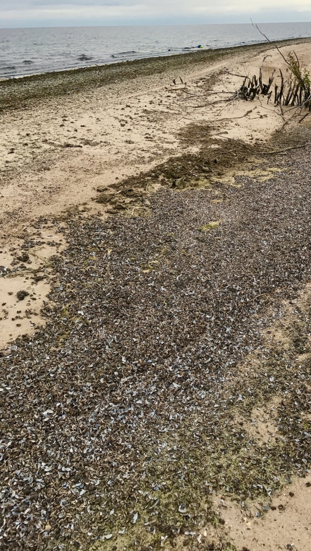
M279 47L304 44L311 37L275 41ZM271 49L269 42L227 48L206 49L194 52L175 53L172 55L146 57L137 60L112 62L103 65L62 69L46 73L35 73L18 78L0 79L0 113L7 109L27 107L27 102L51 97L74 94L95 88L112 85L127 79L182 71L190 64L199 68L206 63L214 63L243 53L254 55ZM200 58L198 58L200 56ZM38 89L39 88L39 89ZM26 102L26 105L25 103Z

